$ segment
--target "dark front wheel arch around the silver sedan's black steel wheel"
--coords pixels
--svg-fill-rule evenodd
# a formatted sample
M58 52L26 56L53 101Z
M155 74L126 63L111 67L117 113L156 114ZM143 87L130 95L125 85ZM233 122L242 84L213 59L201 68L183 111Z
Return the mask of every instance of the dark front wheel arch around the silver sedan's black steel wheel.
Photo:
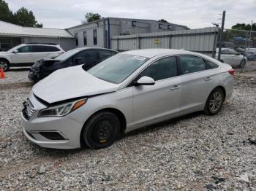
M86 122L88 122L91 119L91 117L94 116L94 114L97 114L99 112L111 112L113 114L116 114L116 116L118 117L118 119L120 120L120 123L121 123L121 133L125 132L125 130L127 128L126 117L124 116L123 112L121 112L119 109L116 109L116 108L113 108L113 107L99 109L97 112L94 112L93 114L91 114L91 116L86 120ZM80 132L80 145L81 145L81 147L85 147L85 144L83 142L83 129L86 125L86 122L84 122L83 128Z

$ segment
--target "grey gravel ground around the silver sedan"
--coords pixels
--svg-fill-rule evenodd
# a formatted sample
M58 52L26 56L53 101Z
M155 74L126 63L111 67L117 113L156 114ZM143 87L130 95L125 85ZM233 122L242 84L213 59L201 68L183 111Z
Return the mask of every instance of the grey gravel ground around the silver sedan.
M101 150L44 149L23 136L28 71L0 79L0 190L256 190L256 80L236 78L215 116L128 133Z

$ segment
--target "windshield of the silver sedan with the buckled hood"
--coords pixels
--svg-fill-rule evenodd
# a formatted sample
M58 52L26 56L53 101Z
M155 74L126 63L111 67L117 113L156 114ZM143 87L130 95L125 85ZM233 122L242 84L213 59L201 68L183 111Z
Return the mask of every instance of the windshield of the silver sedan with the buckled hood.
M118 54L102 61L87 72L99 79L118 84L129 77L143 63L146 63L148 59L138 55Z

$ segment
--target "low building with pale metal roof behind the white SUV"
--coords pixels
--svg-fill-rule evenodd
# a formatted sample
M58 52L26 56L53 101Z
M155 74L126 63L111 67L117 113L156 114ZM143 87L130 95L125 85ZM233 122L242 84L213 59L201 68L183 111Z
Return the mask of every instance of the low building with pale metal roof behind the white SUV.
M22 27L0 20L0 51L29 42L56 43L64 50L75 47L74 36L64 29Z

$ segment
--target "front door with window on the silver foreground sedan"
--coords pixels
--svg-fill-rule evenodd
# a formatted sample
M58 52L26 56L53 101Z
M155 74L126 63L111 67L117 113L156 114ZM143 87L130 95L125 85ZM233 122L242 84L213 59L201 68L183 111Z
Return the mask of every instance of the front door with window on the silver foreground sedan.
M151 63L138 78L143 76L153 78L155 84L132 87L135 128L168 119L180 111L182 87L175 56Z

